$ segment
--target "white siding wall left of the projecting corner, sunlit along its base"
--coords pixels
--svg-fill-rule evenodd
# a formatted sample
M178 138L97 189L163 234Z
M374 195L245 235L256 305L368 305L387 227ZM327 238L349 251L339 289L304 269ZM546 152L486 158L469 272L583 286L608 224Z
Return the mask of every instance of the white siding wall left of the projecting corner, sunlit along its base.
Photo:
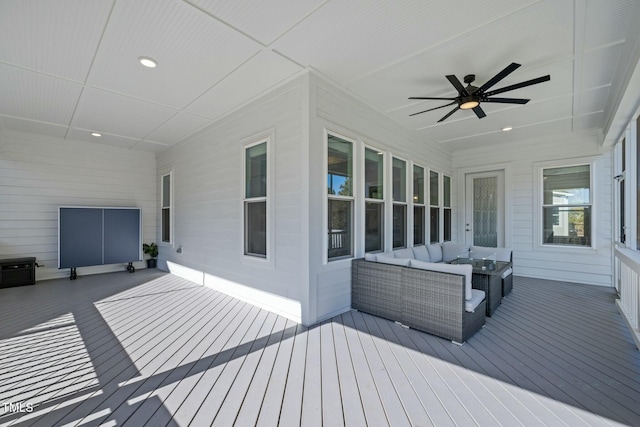
M186 267L190 277L200 277L205 285L297 320L308 277L302 243L301 82L287 83L158 154L156 177L159 200L160 176L173 170L175 240L171 246L160 245L159 266ZM243 254L242 175L243 144L269 135L273 244L265 262ZM182 253L177 253L179 247Z

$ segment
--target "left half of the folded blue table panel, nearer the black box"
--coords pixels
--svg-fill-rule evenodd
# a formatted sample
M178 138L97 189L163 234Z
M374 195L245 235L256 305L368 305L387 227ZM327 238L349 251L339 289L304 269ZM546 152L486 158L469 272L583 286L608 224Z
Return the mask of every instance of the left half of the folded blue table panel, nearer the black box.
M102 209L60 208L59 267L102 264Z

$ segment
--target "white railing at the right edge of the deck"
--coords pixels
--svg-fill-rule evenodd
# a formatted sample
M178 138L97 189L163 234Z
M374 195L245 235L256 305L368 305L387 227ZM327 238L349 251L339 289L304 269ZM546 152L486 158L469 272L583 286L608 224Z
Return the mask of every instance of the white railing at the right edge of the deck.
M619 295L616 305L640 349L640 255L626 248L616 248L614 266Z

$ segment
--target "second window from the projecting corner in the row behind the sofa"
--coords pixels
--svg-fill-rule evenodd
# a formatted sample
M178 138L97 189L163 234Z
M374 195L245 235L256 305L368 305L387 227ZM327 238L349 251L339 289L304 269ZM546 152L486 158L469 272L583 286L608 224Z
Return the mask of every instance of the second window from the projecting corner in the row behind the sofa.
M384 154L364 150L364 249L376 252L384 249Z

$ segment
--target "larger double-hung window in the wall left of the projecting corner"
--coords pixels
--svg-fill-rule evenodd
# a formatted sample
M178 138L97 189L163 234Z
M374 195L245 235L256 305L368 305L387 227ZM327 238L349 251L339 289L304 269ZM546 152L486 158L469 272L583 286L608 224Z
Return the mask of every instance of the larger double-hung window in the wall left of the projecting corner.
M267 142L245 148L244 253L267 257Z

